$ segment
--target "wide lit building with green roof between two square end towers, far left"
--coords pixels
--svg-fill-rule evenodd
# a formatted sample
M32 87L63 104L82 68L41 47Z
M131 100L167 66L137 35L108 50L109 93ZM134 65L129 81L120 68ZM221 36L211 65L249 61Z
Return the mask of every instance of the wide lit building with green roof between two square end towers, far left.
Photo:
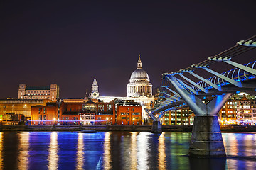
M18 98L56 101L59 98L59 87L57 84L50 84L50 86L26 86L26 84L20 84Z

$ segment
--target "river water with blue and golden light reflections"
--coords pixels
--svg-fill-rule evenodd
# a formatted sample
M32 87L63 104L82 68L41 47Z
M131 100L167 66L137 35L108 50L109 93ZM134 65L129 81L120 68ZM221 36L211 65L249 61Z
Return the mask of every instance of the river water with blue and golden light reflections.
M0 169L256 169L256 134L223 133L226 159L188 157L191 133L0 132Z

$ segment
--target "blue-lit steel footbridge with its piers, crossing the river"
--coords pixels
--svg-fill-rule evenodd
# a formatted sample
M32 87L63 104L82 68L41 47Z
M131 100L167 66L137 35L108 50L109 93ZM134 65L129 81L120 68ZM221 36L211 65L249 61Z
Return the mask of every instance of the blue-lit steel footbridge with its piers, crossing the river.
M176 72L162 74L160 96L154 108L146 109L152 118L152 132L161 133L160 119L169 110L188 106L195 114L188 155L192 157L225 157L225 147L218 123L218 112L228 98L240 91L253 92L256 88L256 61L247 64L234 62L234 57L242 60L242 54L256 47L256 35L240 40L235 46L208 57L203 62L192 64ZM215 64L233 67L219 73L211 67ZM212 74L205 78L201 74ZM191 79L193 77L193 79ZM197 81L194 81L196 79ZM200 81L198 81L198 79ZM206 97L212 99L205 103Z

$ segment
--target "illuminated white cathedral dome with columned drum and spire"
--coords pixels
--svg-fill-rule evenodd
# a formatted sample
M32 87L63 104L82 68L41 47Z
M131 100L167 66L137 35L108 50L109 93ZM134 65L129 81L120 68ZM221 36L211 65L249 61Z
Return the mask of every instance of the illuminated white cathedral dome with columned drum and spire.
M149 74L142 69L140 55L137 69L132 72L127 84L127 96L152 96L152 84L149 83Z

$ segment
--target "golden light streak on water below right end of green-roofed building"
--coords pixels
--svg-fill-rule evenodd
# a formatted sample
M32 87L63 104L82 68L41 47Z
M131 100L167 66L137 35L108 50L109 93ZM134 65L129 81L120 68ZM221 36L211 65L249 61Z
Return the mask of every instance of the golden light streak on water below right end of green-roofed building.
M48 169L58 169L58 133L51 132L48 149Z

